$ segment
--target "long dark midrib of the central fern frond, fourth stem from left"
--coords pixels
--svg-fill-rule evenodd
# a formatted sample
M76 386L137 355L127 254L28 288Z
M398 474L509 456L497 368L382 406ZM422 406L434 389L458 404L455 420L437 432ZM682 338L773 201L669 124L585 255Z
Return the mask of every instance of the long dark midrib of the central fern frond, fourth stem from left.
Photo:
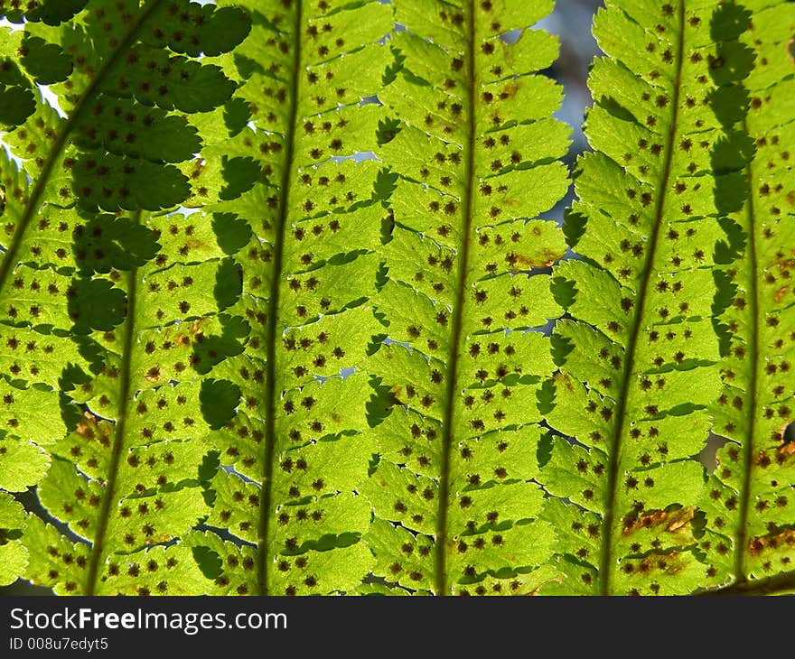
M472 230L472 195L475 188L474 158L475 158L475 130L477 128L477 107L475 98L475 5L470 0L467 6L467 70L469 73L468 94L464 109L467 117L467 138L464 144L464 172L463 172L463 246L461 255L456 259L458 270L455 274L455 308L453 311L453 324L450 336L450 367L447 371L447 384L444 393L444 416L442 424L444 433L442 437L442 467L439 476L439 514L436 516L436 543L434 554L435 592L436 595L447 595L447 508L450 505L450 453L454 441L454 414L455 403L458 400L458 359L461 349L461 333L463 326L463 309L466 303L466 275L469 270L470 231Z

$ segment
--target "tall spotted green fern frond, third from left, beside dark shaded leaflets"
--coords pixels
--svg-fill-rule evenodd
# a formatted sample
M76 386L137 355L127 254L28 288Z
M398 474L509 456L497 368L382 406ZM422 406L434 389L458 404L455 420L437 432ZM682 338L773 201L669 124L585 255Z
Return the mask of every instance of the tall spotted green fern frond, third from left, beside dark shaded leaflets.
M384 215L378 163L354 156L378 148L383 115L363 99L379 92L390 13L377 2L248 5L234 100L251 130L202 153L191 201L250 227L229 309L244 349L213 371L238 396L213 433L224 469L207 524L234 543L191 542L220 562L211 593L351 592L370 562L358 485L373 452L363 362L379 327L369 299Z

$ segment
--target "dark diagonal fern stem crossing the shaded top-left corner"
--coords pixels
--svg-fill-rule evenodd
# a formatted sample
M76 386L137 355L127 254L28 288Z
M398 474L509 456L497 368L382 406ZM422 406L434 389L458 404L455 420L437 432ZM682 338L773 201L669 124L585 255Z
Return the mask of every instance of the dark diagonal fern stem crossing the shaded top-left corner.
M112 70L113 67L116 66L118 58L121 57L129 45L135 41L138 32L140 32L141 28L144 26L144 23L146 23L146 20L149 18L152 12L154 12L154 9L157 7L157 5L160 5L160 3L161 0L150 0L150 2L144 6L144 10L138 15L136 22L133 23L129 32L127 32L125 37L119 42L116 51L113 51L110 57L105 60L102 68L98 70L97 75L91 80L89 87L86 88L86 90L80 96L78 104L74 107L71 115L66 121L66 125L63 126L63 130L61 130L61 132L55 138L51 151L42 164L41 171L38 172L37 175L33 176L33 179L35 179L36 183L33 186L33 190L31 190L30 197L28 197L23 216L20 218L19 223L14 229L14 236L11 238L11 243L5 252L5 257L3 258L3 261L0 262L0 292L5 289L5 283L8 279L8 276L16 269L17 254L19 252L19 247L22 245L24 234L27 231L27 227L31 220L39 211L44 190L46 190L47 184L50 181L52 168L55 166L55 163L58 162L61 152L66 146L67 140L71 135L72 130L74 129L75 125L78 125L80 118L86 111L86 108L89 107L89 101L94 97L99 84L103 81L103 79L105 79L108 71Z

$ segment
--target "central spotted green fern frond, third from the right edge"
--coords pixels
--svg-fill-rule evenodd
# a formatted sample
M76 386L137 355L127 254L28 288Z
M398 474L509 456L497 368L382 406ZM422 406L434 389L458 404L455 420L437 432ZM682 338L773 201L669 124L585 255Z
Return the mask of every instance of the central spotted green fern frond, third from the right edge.
M550 578L533 478L554 365L526 330L559 314L542 269L566 251L537 219L567 187L560 92L538 75L557 42L527 29L551 7L395 5L406 30L379 94L397 118L381 150L398 175L377 298L388 341L373 362L390 404L362 491L374 573L398 591L527 593Z

